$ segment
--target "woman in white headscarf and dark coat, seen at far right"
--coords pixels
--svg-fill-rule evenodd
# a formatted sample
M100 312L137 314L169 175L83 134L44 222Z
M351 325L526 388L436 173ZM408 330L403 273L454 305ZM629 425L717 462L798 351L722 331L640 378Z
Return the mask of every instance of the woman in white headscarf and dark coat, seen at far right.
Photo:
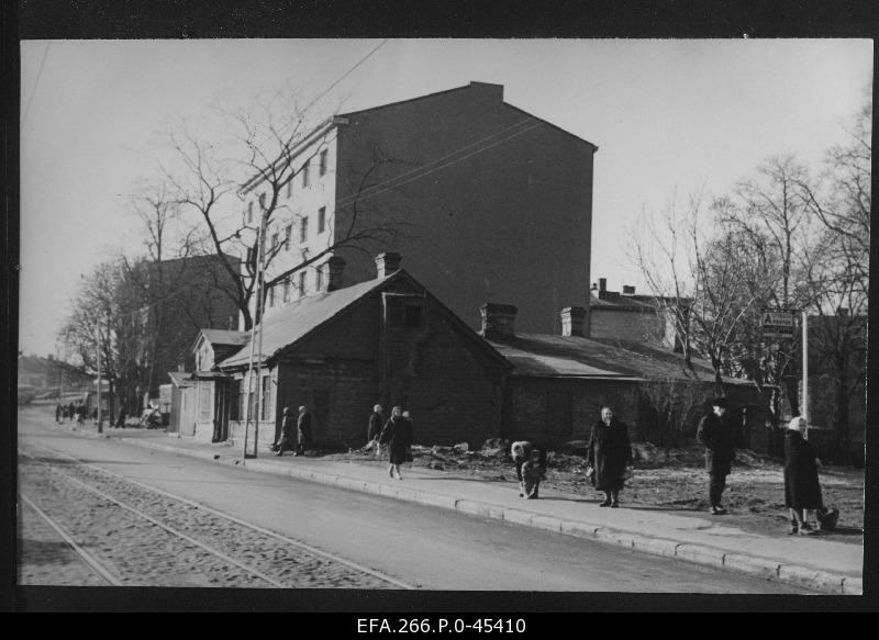
M805 439L808 428L805 418L797 416L785 436L785 506L790 509L790 534L800 536L814 534L809 512L824 508L817 479L819 461Z

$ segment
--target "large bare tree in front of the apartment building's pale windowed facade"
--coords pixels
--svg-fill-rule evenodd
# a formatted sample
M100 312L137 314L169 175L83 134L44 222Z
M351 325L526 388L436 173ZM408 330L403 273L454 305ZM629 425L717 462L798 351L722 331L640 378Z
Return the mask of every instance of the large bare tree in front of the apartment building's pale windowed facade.
M354 198L336 203L327 224L335 224L325 246L311 252L303 251L293 265L283 269L274 268L275 259L285 249L283 243L267 246L264 233L281 214L301 222L302 212L291 205L291 184L312 166L312 160L325 151L334 142L336 130L332 121L311 126L305 113L286 96L269 100L257 97L244 110L225 108L221 112L223 131L231 132L226 144L208 142L207 136L197 135L179 127L169 137L169 147L177 160L177 168L165 167L176 201L186 210L194 212L204 229L205 250L218 255L241 256L240 265L227 265L227 274L234 279L230 295L237 305L243 327L249 329L259 316L266 302L265 292L282 283L293 272L313 265L341 248L363 249L369 242L392 242L398 237L401 224L369 218L364 213L361 200L369 190L381 182L380 168L397 162L376 146L371 161L353 178L356 184ZM240 198L258 190L257 215L253 220L242 211ZM230 213L237 209L238 213ZM260 246L262 242L262 246ZM264 291L260 304L254 304L258 284L258 259L264 259ZM266 276L269 273L270 276Z

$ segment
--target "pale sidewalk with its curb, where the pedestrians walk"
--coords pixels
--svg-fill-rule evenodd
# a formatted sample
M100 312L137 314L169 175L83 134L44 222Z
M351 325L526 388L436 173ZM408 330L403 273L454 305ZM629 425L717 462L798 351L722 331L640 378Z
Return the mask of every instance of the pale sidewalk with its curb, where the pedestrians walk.
M60 425L58 425L60 426ZM69 429L69 426L63 426ZM87 425L77 431L97 436ZM645 553L679 558L716 569L777 580L826 593L861 595L864 549L820 537L765 536L735 527L735 515L678 516L648 508L607 509L598 501L541 489L541 498L519 497L513 482L490 482L432 469L403 468L403 480L388 478L387 464L325 461L320 458L260 454L242 459L240 448L178 438L164 430L105 428L104 437L134 445L289 475L455 509L628 547Z

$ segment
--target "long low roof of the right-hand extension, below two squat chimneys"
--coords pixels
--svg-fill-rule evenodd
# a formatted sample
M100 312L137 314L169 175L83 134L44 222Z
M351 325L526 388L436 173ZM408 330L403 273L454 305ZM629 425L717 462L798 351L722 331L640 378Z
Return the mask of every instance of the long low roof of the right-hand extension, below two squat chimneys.
M689 369L680 355L634 340L518 334L510 340L489 344L515 367L513 375L714 380L714 371L701 360L693 360ZM724 378L724 382L747 384L732 378Z

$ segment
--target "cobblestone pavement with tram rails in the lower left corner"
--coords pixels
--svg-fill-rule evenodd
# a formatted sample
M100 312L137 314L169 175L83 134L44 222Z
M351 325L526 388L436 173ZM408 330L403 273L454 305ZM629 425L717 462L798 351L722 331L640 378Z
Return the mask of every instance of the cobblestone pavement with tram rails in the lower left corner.
M399 588L186 501L42 448L22 450L21 493L123 585ZM105 584L33 509L23 515L21 584Z

